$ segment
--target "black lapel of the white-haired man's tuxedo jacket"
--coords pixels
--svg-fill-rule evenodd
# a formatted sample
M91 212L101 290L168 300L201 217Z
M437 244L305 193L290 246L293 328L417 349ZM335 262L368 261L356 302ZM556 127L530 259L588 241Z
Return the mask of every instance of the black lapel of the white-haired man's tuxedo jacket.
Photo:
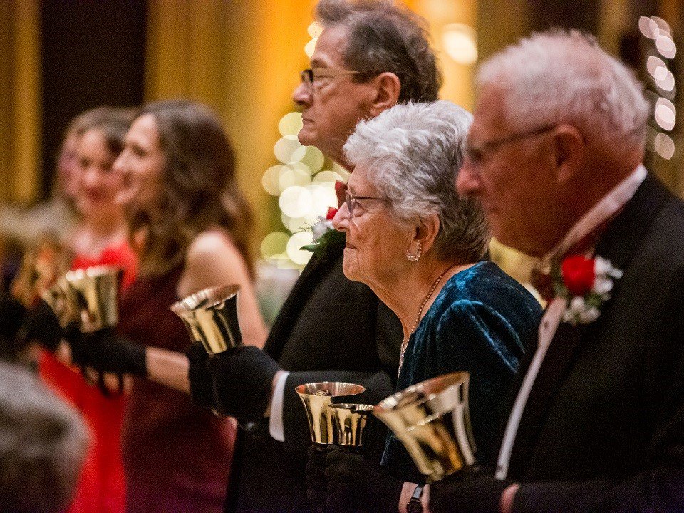
M622 212L608 225L606 233L596 244L596 255L610 260L613 266L626 271L655 215L670 197L670 192L657 179L647 175ZM621 280L617 280L611 295L616 296L620 289ZM546 423L551 403L571 371L579 350L606 325L606 318L610 314L611 301L608 300L603 304L601 317L596 323L572 326L561 322L559 325L520 419L509 463L510 477L523 475L525 462ZM519 371L516 395L532 356L528 354L526 365Z

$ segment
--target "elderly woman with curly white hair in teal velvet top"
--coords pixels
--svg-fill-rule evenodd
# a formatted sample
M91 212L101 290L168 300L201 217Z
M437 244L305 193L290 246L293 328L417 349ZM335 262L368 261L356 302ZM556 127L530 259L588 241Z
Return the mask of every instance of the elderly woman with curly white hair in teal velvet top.
M489 225L477 200L455 190L471 120L439 101L398 105L359 123L344 146L355 168L333 224L346 233L345 275L368 284L402 323L397 389L470 372L477 457L491 465L499 406L541 307L496 264L482 261ZM314 457L309 470L309 497L316 507L325 499L328 513L403 511L415 489L408 483L423 482L391 433L382 465L332 450L327 482Z

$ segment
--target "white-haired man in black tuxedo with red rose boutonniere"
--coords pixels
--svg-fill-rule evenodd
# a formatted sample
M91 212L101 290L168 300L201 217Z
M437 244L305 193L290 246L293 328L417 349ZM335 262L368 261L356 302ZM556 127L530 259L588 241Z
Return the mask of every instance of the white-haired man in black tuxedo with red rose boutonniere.
M539 257L549 303L494 476L442 512L684 511L684 203L641 165L642 86L594 39L550 31L484 63L460 192Z

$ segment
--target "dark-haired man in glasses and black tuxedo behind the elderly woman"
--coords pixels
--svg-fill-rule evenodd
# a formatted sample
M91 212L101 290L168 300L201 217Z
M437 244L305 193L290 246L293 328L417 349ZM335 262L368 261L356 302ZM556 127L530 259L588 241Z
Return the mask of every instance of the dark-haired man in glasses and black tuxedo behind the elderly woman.
M436 100L441 76L424 21L403 6L321 0L316 19L324 30L293 94L302 108L299 141L349 168L342 146L358 121L396 103ZM309 511L304 477L311 439L297 385L360 383L367 390L361 400L370 404L393 393L399 321L367 286L346 279L342 257L343 243L314 254L264 351L245 347L209 362L190 355L195 400L258 426L239 434L229 511ZM375 440L380 450L384 432Z

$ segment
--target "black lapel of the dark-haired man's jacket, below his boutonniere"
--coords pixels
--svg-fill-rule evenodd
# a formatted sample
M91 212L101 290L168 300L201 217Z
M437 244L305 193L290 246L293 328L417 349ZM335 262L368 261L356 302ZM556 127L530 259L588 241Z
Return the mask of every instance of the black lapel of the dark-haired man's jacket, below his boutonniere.
M304 308L306 300L309 299L316 285L321 282L333 266L340 263L343 257L344 244L340 247L331 248L325 258L314 254L301 271L299 279L295 282L285 303L281 307L276 320L271 326L269 338L266 339L264 351L272 358L278 360L287 342L292 328L299 318L301 309Z

